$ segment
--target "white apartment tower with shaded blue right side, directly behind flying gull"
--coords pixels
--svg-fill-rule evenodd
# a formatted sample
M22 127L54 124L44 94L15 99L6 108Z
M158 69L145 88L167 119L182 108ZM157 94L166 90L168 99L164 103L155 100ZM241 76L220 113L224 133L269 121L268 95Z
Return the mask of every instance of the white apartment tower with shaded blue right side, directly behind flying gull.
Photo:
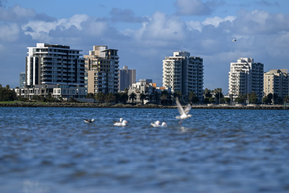
M171 87L172 92L188 96L193 91L201 100L203 77L203 59L189 52L174 52L163 60L163 87Z

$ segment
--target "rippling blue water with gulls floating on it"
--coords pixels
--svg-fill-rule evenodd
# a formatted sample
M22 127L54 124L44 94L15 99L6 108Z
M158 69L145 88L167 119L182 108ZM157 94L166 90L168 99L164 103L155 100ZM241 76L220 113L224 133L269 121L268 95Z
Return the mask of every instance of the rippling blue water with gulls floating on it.
M289 111L190 113L179 125L176 109L0 108L0 192L289 192Z

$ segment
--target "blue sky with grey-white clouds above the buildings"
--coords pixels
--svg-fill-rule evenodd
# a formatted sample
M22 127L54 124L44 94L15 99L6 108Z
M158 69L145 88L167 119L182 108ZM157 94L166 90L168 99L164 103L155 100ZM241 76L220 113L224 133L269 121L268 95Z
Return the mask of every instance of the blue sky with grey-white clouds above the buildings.
M232 40L236 39L236 42ZM264 71L289 68L288 0L0 0L0 84L19 86L27 47L117 49L137 81L162 86L162 61L203 58L204 88L228 93L230 63L252 57Z

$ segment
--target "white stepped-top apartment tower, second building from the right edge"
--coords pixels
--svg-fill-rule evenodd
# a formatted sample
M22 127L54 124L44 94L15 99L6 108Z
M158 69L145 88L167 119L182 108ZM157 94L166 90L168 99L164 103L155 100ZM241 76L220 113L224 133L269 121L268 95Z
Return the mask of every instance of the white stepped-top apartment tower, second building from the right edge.
M229 94L239 95L255 92L258 101L263 93L264 64L255 63L252 58L239 58L231 63L229 72Z

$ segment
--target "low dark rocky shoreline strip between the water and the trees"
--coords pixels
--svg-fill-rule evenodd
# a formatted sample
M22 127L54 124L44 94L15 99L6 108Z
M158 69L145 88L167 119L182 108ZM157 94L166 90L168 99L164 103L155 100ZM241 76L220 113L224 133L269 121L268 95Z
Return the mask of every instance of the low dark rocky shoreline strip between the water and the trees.
M176 109L177 106L164 105L130 105L130 104L116 104L108 105L106 103L30 103L30 102L16 102L16 103L1 103L0 107L59 107L59 108L145 108L145 109ZM260 109L260 110L289 110L289 107L283 105L249 105L249 106L234 106L234 105L192 105L192 109Z

